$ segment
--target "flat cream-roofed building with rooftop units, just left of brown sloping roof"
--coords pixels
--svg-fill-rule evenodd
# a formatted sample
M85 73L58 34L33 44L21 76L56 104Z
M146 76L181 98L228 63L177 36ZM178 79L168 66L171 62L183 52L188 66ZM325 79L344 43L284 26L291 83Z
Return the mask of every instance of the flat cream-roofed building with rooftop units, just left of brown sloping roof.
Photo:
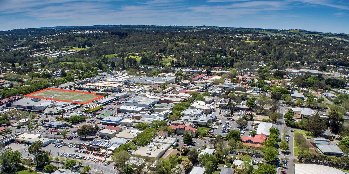
M132 155L140 156L146 160L158 159L165 153L164 149L161 148L151 148L147 146L140 146L135 150Z

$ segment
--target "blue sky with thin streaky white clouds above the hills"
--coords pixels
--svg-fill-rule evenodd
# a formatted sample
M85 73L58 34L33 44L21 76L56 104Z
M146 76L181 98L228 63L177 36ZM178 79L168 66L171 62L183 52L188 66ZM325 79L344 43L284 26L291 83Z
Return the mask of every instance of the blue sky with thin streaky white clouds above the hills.
M349 1L0 1L0 30L104 24L305 29L349 34Z

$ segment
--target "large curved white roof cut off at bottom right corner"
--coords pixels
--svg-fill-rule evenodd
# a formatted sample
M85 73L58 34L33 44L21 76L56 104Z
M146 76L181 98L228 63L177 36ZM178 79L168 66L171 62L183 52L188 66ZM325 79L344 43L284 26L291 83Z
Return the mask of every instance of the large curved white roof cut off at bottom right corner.
M295 164L294 174L344 174L340 169L318 164Z

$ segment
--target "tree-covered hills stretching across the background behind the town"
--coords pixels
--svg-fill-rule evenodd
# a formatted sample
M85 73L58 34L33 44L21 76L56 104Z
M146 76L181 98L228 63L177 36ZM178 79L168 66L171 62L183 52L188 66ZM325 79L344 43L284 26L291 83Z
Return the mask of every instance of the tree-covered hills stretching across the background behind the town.
M86 63L100 69L108 64L258 68L261 61L273 69L349 66L349 42L307 32L123 25L18 29L0 32L0 62L7 71L9 64L29 65L18 73L36 63L74 70L84 70Z

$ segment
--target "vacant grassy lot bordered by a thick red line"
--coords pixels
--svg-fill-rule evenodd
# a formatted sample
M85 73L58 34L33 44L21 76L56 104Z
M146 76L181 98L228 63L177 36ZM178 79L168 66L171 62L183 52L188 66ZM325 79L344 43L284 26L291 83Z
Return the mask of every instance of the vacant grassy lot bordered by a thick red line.
M52 98L51 95L58 95L54 98ZM66 101L74 101L74 102L80 102L80 103L86 103L88 101L94 100L97 97L95 94L86 94L86 93L77 93L77 92L68 92L68 91L61 91L61 90L52 90L47 89L42 92L38 92L35 94L31 94L30 96L36 96L36 97L49 97L53 100L66 100Z

